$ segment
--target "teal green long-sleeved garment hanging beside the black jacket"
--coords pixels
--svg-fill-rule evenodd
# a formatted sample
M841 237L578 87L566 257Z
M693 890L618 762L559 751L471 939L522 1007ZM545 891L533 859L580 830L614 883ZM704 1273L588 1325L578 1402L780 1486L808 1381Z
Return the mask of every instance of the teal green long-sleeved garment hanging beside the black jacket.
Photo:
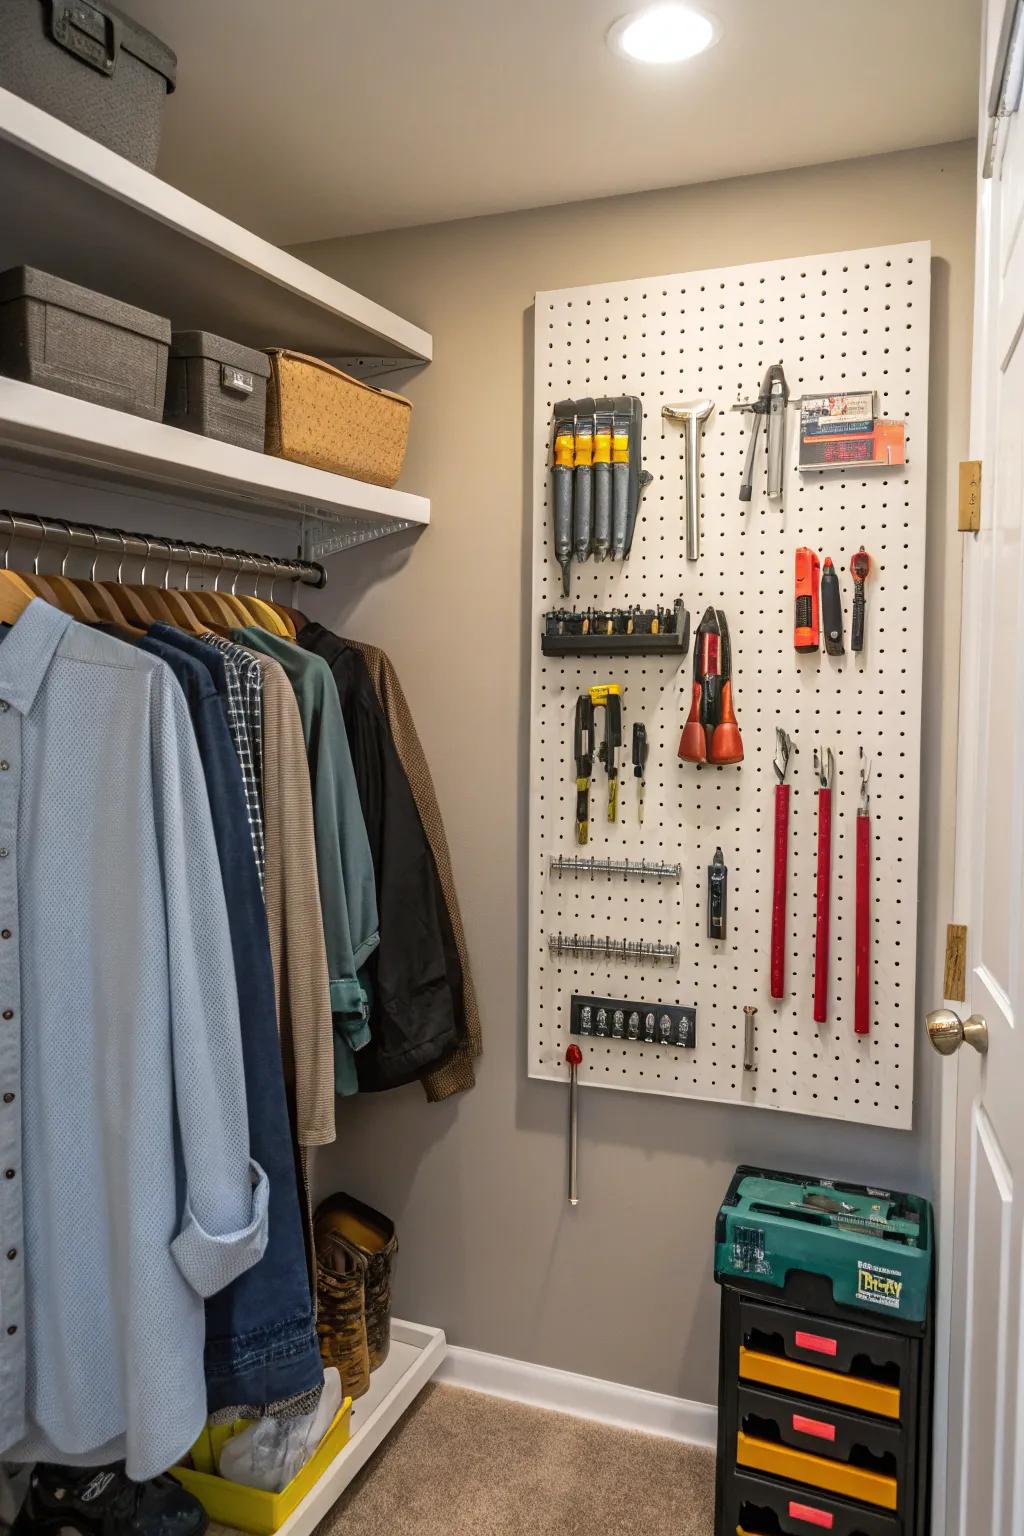
M322 656L299 650L256 625L232 639L281 662L295 690L313 790L316 880L324 912L324 942L335 1020L335 1086L356 1094L353 1052L370 1040L367 994L358 971L378 946L373 859L338 687Z

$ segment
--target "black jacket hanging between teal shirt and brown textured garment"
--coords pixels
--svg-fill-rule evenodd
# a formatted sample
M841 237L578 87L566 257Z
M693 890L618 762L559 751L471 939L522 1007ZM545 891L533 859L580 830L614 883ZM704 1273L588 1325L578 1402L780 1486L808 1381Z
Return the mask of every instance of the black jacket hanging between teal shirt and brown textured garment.
M370 839L381 942L361 971L370 1044L356 1052L359 1089L411 1083L462 1040L462 968L434 857L367 665L321 624L298 644L332 670Z

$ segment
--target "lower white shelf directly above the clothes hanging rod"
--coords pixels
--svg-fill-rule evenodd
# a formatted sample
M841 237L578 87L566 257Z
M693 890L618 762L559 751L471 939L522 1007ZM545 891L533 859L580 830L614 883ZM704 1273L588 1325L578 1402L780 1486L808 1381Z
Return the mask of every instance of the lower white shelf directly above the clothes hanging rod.
M236 449L18 379L0 378L0 455L43 465L48 475L98 476L189 505L313 519L330 525L319 545L327 551L430 522L427 496Z

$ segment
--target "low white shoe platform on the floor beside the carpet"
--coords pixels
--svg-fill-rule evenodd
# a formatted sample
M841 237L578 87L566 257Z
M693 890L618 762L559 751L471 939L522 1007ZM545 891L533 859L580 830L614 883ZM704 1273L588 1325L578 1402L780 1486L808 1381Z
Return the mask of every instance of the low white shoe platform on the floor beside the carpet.
M391 1319L388 1356L370 1376L370 1390L352 1405L348 1444L289 1514L276 1536L307 1536L330 1513L355 1475L436 1373L447 1349L441 1329Z

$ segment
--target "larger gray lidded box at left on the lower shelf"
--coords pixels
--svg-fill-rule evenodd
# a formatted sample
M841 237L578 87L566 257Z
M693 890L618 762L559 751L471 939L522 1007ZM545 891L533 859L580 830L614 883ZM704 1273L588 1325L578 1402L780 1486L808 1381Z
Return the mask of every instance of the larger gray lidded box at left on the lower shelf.
M160 421L170 321L37 267L0 272L0 373Z

